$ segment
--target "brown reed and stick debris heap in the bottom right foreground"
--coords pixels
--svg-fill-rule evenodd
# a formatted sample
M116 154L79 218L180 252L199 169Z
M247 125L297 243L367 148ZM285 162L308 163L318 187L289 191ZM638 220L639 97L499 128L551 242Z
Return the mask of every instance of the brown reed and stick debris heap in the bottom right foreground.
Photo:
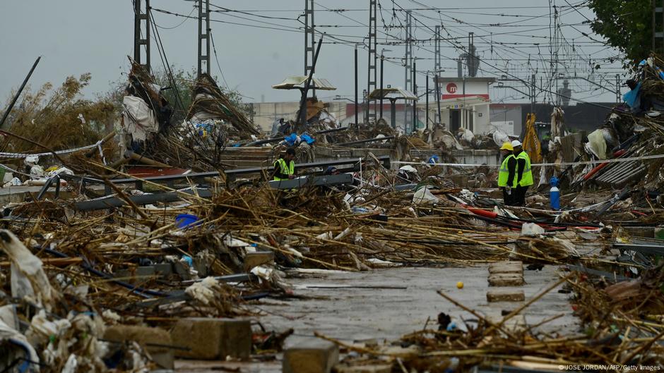
M661 280L661 266L644 276L651 282L652 276ZM521 312L527 312L524 310L535 298L545 293L492 321L439 292L472 315L464 319L463 324L455 324L449 316L440 314L437 328L425 326L424 330L386 346L335 342L350 353L343 365L387 364L409 372L465 372L473 367L552 371L560 366L593 364L610 365L608 369L615 371L629 370L625 367L632 367L632 370L639 370L641 366L661 367L664 347L658 340L664 333L659 319L664 295L658 288L643 285L648 282L646 279L603 288L601 284L588 281L586 275L564 276L559 283L574 289L574 309L583 320L583 333L573 336L538 331L541 324L514 323ZM639 287L647 298L643 302L627 301L638 293L627 289ZM653 311L656 312L653 316L639 317L639 314Z

